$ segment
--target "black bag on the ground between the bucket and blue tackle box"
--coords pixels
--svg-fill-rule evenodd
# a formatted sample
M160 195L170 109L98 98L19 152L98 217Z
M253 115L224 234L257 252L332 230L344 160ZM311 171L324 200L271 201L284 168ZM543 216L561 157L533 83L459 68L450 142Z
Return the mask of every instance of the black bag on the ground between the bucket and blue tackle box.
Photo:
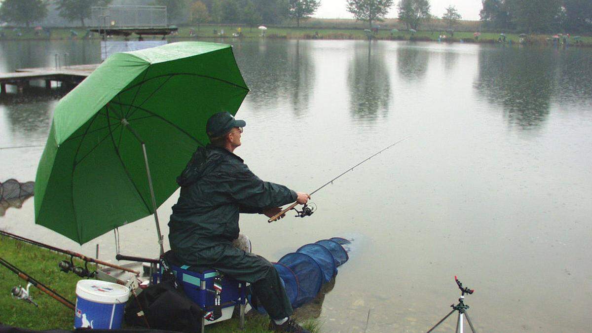
M168 278L144 289L128 301L126 324L168 329L181 332L201 332L202 309L192 302L174 278Z

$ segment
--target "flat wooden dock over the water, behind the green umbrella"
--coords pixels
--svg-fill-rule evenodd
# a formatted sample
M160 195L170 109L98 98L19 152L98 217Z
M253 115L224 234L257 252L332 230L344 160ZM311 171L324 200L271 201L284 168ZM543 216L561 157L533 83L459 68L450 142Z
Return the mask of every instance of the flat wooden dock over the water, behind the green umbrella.
M89 76L99 64L62 66L60 68L21 68L12 73L0 73L0 94L6 94L7 85L17 86L22 91L31 81L44 81L47 89L52 88L52 81L62 86L76 87Z

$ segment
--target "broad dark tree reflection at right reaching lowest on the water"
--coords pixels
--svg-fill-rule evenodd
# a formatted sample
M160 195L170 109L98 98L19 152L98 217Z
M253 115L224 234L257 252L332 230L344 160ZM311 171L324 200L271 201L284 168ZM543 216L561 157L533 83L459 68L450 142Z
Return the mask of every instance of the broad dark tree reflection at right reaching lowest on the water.
M507 121L523 129L540 126L549 116L555 90L556 59L532 48L481 50L475 88L504 108Z

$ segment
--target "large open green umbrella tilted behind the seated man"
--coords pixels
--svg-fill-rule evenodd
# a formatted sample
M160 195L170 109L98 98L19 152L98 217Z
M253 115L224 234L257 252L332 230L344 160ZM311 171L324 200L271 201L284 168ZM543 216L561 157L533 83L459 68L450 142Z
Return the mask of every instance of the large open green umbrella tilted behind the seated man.
M35 222L84 244L154 214L214 113L247 88L230 45L182 42L115 53L53 114L37 168Z

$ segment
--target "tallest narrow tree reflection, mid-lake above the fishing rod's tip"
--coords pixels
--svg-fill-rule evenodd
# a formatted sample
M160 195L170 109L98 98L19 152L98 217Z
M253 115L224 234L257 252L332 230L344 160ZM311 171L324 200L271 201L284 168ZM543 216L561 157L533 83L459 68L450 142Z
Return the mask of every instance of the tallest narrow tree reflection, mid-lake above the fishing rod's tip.
M391 84L381 43L356 44L349 63L348 88L354 118L376 120L378 111L388 113Z

